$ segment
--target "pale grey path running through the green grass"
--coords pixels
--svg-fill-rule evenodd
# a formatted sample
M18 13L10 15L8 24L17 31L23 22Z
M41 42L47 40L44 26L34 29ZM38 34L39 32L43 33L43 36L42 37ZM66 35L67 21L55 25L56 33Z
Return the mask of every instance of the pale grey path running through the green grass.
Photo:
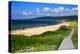
M67 50L67 49L74 49L73 43L72 43L72 35L73 35L73 30L72 32L69 34L69 36L67 36L61 43L59 50Z

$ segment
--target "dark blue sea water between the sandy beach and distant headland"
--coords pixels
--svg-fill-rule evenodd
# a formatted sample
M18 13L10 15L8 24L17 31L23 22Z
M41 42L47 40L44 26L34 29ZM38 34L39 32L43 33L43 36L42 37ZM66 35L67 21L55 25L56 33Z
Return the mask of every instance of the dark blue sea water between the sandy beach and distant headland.
M60 23L58 21L34 21L34 20L11 20L11 30L25 29L40 26L49 26Z

